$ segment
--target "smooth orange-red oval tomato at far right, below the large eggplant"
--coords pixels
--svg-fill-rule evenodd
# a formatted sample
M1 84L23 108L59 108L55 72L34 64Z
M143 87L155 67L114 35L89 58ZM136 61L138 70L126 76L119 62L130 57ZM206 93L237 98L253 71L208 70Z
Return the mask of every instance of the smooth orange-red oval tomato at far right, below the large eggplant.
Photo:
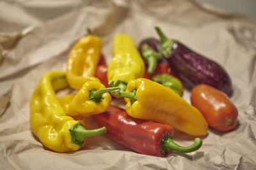
M191 90L191 103L213 129L227 132L236 127L237 108L224 92L209 85L196 85Z

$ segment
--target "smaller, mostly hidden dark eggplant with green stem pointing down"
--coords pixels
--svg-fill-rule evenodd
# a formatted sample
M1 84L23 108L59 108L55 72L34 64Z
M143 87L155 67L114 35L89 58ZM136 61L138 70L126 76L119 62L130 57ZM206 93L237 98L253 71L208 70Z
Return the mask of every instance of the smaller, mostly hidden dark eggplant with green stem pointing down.
M140 42L139 51L145 63L148 64L147 73L153 74L157 67L157 62L163 59L160 53L161 41L156 38L143 39Z

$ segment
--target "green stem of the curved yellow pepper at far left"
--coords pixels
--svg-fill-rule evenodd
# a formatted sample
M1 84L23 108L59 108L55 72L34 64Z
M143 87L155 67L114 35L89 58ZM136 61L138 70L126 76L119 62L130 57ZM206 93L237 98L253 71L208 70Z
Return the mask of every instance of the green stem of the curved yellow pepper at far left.
M99 129L88 130L78 122L69 129L69 132L71 136L71 143L75 143L81 147L87 137L102 134L107 132L107 129L106 127L101 127Z

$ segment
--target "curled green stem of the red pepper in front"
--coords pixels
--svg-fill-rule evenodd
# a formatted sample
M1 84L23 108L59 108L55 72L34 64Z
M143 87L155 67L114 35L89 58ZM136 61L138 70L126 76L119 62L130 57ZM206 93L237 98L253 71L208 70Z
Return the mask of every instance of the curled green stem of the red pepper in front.
M180 146L174 143L172 140L172 136L168 133L164 139L162 139L162 150L163 152L167 150L174 150L180 153L189 153L194 152L195 150L198 150L202 146L202 139L195 138L194 143L190 146Z

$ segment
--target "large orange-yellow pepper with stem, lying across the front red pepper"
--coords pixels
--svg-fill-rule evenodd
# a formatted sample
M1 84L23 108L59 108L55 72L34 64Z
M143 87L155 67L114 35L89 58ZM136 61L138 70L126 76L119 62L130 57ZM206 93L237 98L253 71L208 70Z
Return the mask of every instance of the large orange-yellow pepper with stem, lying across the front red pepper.
M208 124L200 111L159 83L138 78L129 81L126 92L111 93L125 97L125 110L131 117L169 124L191 136L207 134Z

